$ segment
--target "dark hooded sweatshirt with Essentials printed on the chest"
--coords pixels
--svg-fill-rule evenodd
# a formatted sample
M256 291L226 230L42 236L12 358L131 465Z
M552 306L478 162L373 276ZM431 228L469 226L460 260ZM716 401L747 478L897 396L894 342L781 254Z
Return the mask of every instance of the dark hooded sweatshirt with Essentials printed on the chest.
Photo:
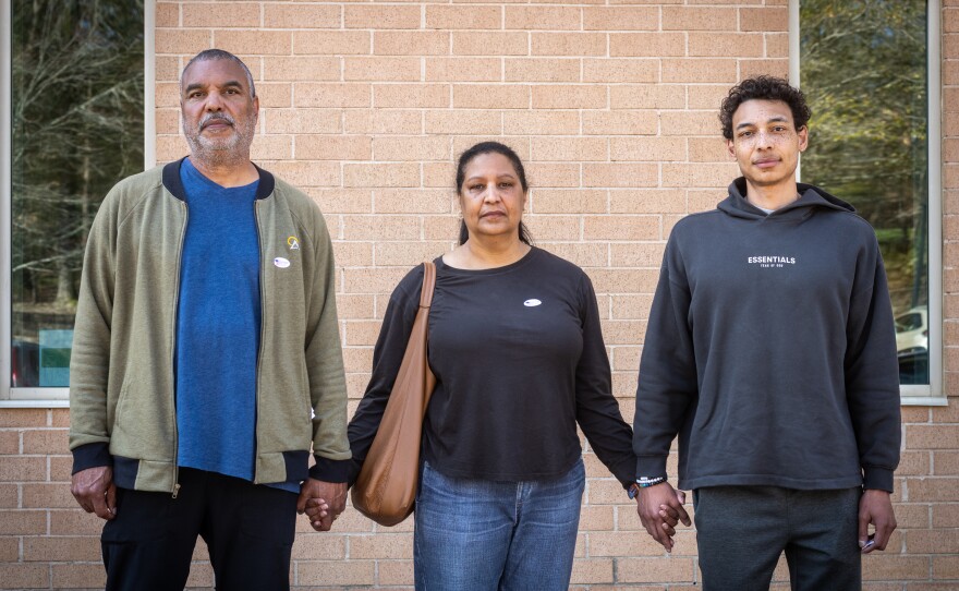
M872 227L812 185L768 216L745 182L672 230L643 346L636 475L893 491L899 374Z

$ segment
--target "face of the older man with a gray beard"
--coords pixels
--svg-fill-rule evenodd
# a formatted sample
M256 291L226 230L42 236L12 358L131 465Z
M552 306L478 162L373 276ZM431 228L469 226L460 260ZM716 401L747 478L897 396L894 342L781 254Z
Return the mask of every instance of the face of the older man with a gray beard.
M221 161L248 157L259 99L251 96L240 64L233 60L194 62L183 73L180 108L194 156Z

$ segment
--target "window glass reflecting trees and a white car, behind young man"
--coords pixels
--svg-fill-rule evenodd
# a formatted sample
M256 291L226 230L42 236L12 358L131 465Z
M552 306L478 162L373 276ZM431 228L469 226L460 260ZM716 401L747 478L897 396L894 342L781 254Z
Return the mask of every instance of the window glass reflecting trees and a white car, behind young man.
M801 0L801 86L813 110L802 180L876 230L902 384L928 384L926 51L923 0Z

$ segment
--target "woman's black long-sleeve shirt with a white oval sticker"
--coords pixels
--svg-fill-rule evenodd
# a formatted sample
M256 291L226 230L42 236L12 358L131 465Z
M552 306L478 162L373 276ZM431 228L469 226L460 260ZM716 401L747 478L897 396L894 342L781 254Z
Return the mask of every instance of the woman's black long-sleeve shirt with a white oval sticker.
M428 342L437 385L423 441L430 466L461 478L557 478L580 457L579 423L617 479L632 482L632 432L611 395L585 273L535 248L499 268L457 269L441 258L436 267ZM355 473L389 399L422 284L418 266L390 298L373 375L349 427Z

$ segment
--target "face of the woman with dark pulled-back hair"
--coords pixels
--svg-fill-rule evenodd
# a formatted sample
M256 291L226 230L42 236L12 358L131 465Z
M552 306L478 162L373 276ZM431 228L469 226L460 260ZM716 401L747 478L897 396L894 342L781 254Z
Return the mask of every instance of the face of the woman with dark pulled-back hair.
M513 236L519 240L526 194L509 158L496 152L466 164L460 209L470 238Z

